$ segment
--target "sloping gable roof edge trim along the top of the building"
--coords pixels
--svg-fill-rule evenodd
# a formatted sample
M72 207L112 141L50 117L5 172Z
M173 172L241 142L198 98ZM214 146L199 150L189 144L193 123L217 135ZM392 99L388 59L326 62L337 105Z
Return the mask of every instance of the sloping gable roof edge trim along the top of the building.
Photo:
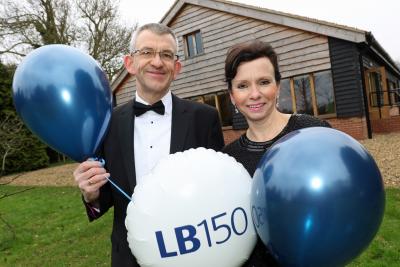
M367 43L367 35L371 35L371 33L353 27L225 0L176 0L167 13L161 18L160 23L169 25L179 11L187 4L250 17L353 43ZM381 48L380 45L379 47ZM386 52L384 54L388 56ZM390 57L389 62L393 63ZM127 71L124 69L117 75L116 79L111 84L113 91L125 79L127 74Z

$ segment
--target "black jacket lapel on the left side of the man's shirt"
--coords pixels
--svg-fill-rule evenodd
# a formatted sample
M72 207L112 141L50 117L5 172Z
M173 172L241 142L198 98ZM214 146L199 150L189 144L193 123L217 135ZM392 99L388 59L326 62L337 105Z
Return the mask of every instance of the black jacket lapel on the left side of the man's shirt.
M126 177L128 177L130 189L133 189L136 185L135 177L135 156L133 148L133 127L135 123L135 116L133 115L133 102L121 112L119 116L119 133L118 138L120 140L120 147L122 152L122 159L125 166ZM121 143L127 142L127 143Z

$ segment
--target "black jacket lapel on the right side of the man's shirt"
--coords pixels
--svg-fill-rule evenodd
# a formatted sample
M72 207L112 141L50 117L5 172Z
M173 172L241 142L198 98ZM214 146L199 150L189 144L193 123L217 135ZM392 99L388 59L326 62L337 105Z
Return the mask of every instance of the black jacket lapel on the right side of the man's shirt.
M189 120L190 113L185 102L172 95L171 154L184 150Z

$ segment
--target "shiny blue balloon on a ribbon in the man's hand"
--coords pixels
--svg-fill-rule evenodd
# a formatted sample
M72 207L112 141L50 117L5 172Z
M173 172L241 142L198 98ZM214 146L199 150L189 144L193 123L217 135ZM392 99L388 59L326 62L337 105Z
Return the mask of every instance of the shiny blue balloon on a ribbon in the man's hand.
M75 161L95 154L111 118L111 90L100 65L66 45L29 53L14 74L13 97L28 128Z

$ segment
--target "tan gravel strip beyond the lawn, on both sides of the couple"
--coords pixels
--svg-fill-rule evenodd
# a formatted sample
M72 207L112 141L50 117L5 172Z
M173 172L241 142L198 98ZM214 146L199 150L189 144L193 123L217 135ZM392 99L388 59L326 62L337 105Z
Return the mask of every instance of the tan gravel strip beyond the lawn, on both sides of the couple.
M400 133L374 135L373 139L360 141L377 162L386 186L400 187ZM78 164L27 172L19 176L0 178L0 184L12 185L75 185L72 172Z

